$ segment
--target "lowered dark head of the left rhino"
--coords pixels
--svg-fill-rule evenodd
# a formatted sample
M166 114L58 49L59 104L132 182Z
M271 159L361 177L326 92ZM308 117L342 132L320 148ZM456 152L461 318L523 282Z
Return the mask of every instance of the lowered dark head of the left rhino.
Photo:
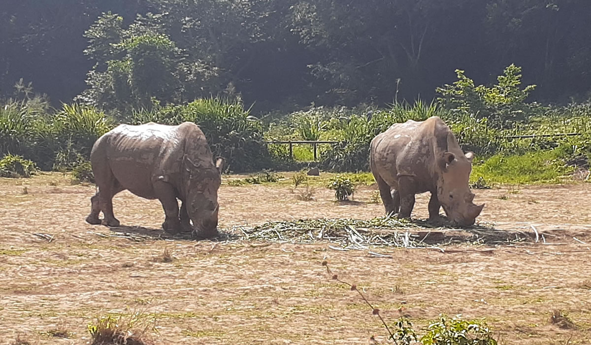
M217 215L219 204L217 203L217 190L222 184L222 169L224 160L218 158L215 166L193 165L187 181L187 213L193 223L193 234L196 237L216 237Z

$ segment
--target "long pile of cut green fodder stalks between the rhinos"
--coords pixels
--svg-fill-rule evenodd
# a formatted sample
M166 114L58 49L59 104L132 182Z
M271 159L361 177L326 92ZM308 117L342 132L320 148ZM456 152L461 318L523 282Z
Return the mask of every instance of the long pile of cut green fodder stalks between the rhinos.
M314 243L330 241L343 248L365 249L371 246L433 247L456 243L502 244L531 239L523 231L497 230L491 226L474 225L454 228L449 225L436 227L427 221L400 220L395 217L378 217L372 220L304 219L274 221L255 227L239 227L238 236L243 240L264 240L289 243Z

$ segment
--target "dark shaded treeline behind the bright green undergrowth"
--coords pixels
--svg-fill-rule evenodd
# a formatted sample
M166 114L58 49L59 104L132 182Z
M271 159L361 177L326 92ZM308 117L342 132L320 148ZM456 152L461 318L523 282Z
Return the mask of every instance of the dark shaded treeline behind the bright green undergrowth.
M533 99L566 102L591 90L589 18L589 0L4 0L0 93L24 78L54 105L241 93L267 111L428 99L455 69L491 83L515 63Z

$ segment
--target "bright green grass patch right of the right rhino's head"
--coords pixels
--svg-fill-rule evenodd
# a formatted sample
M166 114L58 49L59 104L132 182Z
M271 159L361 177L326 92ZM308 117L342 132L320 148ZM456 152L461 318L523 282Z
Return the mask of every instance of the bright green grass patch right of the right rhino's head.
M560 183L573 172L561 159L560 151L537 151L522 156L496 154L472 167L470 182L479 178L489 184Z

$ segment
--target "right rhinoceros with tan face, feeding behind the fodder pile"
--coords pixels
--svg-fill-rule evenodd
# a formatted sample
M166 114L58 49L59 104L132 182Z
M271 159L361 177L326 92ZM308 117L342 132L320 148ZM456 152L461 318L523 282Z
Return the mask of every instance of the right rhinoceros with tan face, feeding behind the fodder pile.
M442 206L453 223L467 226L484 207L473 204L468 186L473 157L439 117L431 117L393 124L378 134L371 141L369 165L387 213L409 218L414 195L431 192L430 221L439 220Z

